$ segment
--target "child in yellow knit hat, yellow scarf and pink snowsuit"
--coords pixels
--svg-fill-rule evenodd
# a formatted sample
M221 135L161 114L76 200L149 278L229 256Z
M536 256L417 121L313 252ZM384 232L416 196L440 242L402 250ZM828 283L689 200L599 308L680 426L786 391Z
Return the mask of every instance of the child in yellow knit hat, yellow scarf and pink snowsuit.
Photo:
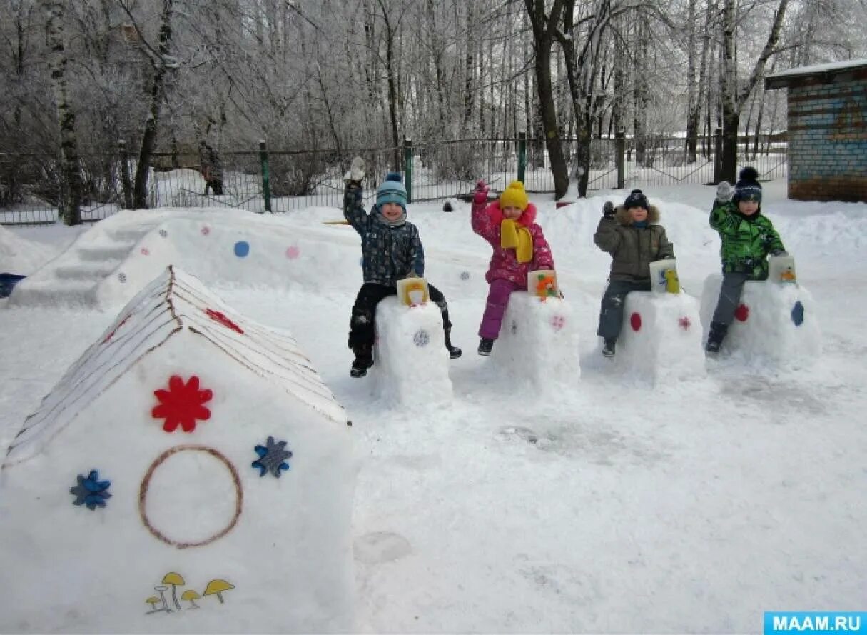
M524 183L513 180L490 205L487 192L485 181L479 180L473 194L473 232L493 248L485 275L491 288L479 326L479 355L491 354L512 291L526 291L529 272L554 268L551 247L536 224L536 206L527 199Z

